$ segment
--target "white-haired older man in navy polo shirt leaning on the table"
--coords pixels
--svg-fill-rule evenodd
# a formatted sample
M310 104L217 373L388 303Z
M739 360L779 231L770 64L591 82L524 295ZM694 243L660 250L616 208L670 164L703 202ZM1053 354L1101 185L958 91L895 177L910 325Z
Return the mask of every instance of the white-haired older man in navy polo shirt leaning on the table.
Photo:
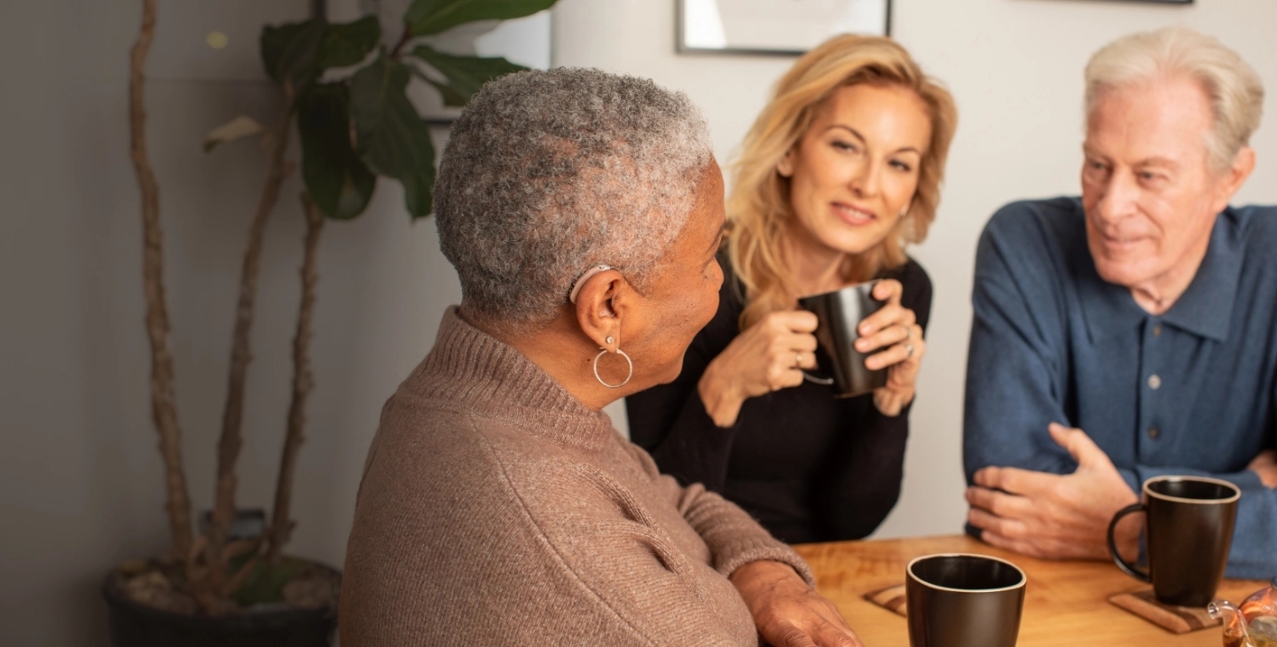
M1106 46L1085 79L1082 199L1010 204L979 241L968 521L996 546L1106 559L1144 480L1211 475L1243 490L1228 574L1272 577L1277 208L1228 207L1263 87L1184 28Z

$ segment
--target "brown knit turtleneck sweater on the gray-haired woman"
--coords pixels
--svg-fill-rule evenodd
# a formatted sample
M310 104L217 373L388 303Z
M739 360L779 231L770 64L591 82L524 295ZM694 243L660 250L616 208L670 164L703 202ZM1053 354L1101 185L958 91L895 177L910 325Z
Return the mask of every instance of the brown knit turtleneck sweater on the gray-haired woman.
M368 454L341 644L756 646L727 577L760 559L811 582L744 512L661 476L450 309Z

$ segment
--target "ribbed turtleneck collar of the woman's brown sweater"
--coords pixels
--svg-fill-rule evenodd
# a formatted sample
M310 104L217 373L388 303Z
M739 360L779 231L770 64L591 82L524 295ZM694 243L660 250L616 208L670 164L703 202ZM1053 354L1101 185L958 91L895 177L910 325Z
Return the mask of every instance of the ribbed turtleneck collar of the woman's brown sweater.
M601 447L616 434L607 413L586 407L526 355L466 323L456 306L443 314L434 348L400 390L485 417L515 419L531 433L582 449Z

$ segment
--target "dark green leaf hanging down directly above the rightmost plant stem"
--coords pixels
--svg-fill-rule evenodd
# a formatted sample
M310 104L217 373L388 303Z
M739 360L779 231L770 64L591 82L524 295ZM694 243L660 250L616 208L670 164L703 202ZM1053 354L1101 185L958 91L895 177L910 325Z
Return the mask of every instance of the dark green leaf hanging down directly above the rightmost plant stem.
M364 212L377 176L350 142L350 91L340 83L312 83L298 97L301 180L310 199L331 218Z

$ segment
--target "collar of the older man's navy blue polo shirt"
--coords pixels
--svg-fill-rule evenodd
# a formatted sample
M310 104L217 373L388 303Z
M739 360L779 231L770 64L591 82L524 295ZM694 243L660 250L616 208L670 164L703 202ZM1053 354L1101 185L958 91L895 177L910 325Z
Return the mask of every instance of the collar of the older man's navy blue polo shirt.
M1161 316L1162 322L1200 337L1227 341L1241 272L1241 250L1236 216L1231 208L1225 209L1211 228L1211 242L1193 282ZM1085 236L1079 251L1074 272L1092 342L1126 332L1151 316L1135 304L1130 290L1099 278Z

